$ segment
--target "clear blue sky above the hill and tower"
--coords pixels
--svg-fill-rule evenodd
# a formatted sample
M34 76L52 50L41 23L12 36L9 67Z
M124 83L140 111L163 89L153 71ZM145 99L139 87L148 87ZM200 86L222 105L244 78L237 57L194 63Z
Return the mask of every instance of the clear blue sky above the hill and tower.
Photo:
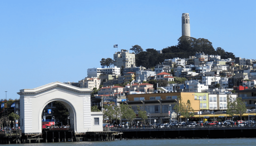
M256 59L256 1L1 1L0 99L51 82L78 82L135 44L178 44L181 14L191 37L236 57Z

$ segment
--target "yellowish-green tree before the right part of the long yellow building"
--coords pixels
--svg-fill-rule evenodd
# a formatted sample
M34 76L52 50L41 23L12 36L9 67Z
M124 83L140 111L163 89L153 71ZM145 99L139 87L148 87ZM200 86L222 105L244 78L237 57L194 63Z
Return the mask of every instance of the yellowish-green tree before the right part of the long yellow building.
M178 97L178 102L176 102L174 109L177 113L180 112L186 119L194 116L194 109L191 107L190 100L187 100L187 102L184 103L182 98Z

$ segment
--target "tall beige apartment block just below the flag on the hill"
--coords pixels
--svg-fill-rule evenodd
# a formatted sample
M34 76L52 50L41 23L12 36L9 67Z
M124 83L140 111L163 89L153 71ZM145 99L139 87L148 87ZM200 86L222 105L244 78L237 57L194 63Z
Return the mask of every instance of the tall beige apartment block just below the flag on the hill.
M116 52L114 54L114 66L119 68L122 66L124 66L124 68L135 67L135 54L121 49L121 52Z

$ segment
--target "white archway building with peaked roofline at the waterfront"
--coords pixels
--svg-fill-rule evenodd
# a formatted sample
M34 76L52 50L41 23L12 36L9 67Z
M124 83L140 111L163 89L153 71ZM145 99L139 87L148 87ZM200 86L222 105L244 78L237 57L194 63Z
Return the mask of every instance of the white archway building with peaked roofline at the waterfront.
M61 82L35 89L22 89L20 127L22 133L42 133L42 112L53 101L61 102L70 113L70 127L75 133L102 131L102 112L91 112L92 91Z

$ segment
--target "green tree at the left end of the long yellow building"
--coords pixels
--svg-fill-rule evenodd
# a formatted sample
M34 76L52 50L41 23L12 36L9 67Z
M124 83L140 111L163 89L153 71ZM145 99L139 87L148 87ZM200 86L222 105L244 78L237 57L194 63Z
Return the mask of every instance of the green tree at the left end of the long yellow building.
M122 103L122 104L120 104L120 108L121 108L122 118L129 120L130 126L131 126L133 124L134 118L136 118L136 114L135 114L134 110L132 110L131 105Z

